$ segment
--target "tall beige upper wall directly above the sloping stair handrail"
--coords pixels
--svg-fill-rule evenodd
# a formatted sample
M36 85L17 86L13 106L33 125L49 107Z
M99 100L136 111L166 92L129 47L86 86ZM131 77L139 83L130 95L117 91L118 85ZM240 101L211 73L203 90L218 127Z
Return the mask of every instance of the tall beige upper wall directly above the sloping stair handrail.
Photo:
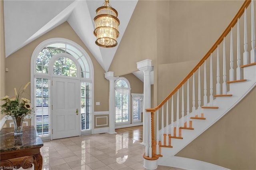
M170 1L170 50L168 55L158 58L158 63L201 59L224 32L243 2Z

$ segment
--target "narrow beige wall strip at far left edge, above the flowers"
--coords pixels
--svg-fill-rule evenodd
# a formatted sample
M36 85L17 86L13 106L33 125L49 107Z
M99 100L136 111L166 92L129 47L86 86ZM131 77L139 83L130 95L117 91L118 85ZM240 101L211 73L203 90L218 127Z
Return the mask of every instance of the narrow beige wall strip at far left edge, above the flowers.
M0 0L0 97L5 96L4 4ZM0 115L0 120L4 115Z

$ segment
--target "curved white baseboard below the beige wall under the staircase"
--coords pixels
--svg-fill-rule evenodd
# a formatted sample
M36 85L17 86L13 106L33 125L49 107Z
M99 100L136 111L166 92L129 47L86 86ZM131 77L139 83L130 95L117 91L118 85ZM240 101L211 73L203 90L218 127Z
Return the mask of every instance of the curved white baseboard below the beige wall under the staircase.
M190 158L183 158L179 156L172 156L168 158L168 161L163 157L158 159L158 165L170 166L174 168L182 168L185 170L229 170L222 166L210 164L200 160L194 160Z

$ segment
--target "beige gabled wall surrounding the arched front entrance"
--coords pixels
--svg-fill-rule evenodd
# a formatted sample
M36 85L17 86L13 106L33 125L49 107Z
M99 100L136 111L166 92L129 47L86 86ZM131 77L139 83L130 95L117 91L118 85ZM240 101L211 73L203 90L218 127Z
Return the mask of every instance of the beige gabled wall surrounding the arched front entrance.
M30 81L31 55L39 43L50 38L66 38L78 43L86 50L92 59L94 67L94 101L100 102L100 105L95 105L95 111L108 111L109 82L104 78L104 70L72 30L68 22L64 22L6 58L6 67L9 69L9 72L6 73L6 85L8 85L6 86L6 94L12 96L14 87L20 87ZM30 87L27 90L30 92Z

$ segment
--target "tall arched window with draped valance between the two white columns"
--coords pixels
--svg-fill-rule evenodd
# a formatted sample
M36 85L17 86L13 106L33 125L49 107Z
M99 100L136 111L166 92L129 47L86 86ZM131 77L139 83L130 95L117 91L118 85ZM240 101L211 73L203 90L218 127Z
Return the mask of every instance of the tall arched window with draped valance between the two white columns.
M116 124L130 123L130 83L121 77L115 82Z

